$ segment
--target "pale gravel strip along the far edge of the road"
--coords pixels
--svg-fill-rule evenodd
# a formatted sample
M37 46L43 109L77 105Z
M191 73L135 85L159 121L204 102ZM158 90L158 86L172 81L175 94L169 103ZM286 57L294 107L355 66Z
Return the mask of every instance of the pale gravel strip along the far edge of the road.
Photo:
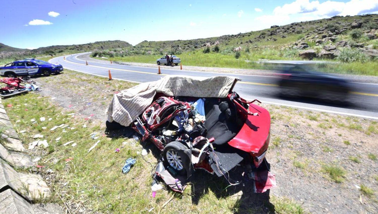
M77 56L77 59L107 63L108 60L96 59L90 57L90 54L83 54ZM149 68L158 68L158 65L151 63L137 63L137 62L113 62L119 65L131 65L131 66L142 66ZM180 70L180 66L165 66L161 65L164 69L175 69ZM274 70L263 70L263 69L240 69L240 68L217 68L217 67L202 67L202 66L186 66L183 65L183 69L187 71L205 71L205 72L217 72L217 73L228 73L228 74L246 74L246 75L263 75L263 76L275 76L277 71ZM359 83L378 83L378 77L376 76L365 76L365 75L352 75L352 74L335 74L350 82Z

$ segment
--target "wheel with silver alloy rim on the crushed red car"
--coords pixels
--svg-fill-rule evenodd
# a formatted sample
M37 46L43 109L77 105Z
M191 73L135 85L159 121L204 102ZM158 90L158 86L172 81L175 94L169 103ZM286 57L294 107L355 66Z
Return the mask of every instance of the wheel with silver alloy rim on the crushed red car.
M184 150L188 149L184 144L178 142L178 141L173 141L168 143L163 150L163 157L164 157L164 165L172 167L175 169L175 171L180 174L184 175L187 172L187 166L183 163L183 158L180 157L180 155L177 154L178 150ZM176 159L172 156L172 154L176 155ZM168 157L167 157L168 155ZM181 162L181 166L180 163Z

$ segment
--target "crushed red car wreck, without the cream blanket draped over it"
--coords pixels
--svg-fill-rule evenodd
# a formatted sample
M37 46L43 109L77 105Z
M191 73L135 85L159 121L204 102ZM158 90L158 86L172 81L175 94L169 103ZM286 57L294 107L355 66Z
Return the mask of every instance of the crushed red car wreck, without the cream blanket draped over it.
M265 158L270 114L255 104L258 100L248 102L232 91L237 80L225 97L154 94L153 102L130 126L142 135L141 142L150 141L162 151L155 179L182 192L192 174L203 169L236 185L229 171L241 166L255 192L276 185Z

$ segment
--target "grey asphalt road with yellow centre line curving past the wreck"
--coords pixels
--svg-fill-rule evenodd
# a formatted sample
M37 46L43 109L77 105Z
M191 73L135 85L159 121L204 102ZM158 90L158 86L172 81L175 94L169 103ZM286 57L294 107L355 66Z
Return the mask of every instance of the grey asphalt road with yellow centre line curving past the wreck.
M242 79L242 81L239 81L235 85L234 91L238 92L241 97L247 100L259 99L265 103L378 119L378 84L350 82L349 84L352 86L353 91L349 94L347 103L326 103L313 99L289 99L279 97L279 87L276 85L277 77L273 76L174 70L164 69L164 66L160 66L161 74L157 74L158 68L118 65L114 63L110 64L108 61L98 62L98 60L95 59L93 59L93 61L88 61L88 65L86 65L84 60L80 59L80 57L78 59L78 56L83 54L87 53L66 55L65 59L63 56L56 57L49 60L49 62L60 63L65 69L103 77L108 77L108 70L110 69L113 79L128 80L139 83L155 81L160 79L163 75L189 75L201 77L229 75Z

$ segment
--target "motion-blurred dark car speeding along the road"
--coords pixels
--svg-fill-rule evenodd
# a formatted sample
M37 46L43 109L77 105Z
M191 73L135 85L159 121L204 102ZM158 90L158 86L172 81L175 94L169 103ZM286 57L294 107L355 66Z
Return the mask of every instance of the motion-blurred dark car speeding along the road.
M325 101L347 100L350 86L336 75L315 71L313 65L284 65L279 69L280 95L289 97L311 97Z

